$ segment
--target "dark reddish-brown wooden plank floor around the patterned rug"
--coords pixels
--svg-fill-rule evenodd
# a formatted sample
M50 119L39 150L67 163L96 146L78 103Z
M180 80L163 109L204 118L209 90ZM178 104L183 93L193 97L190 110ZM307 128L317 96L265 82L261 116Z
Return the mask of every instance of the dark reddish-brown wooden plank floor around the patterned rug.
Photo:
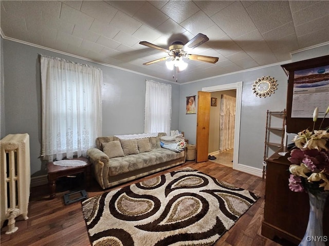
M261 235L265 180L232 170L232 168L211 161L201 163L187 161L184 165L160 173L177 170L181 167L197 169L218 180L229 182L236 187L244 188L260 196L260 199L214 244L215 246L293 245L287 242L274 242ZM159 175L159 173L152 176L157 175ZM140 180L141 179L138 181ZM136 182L136 180L134 182ZM126 183L122 186L131 183L133 182ZM92 187L87 189L87 191L89 197L103 192L96 182L94 182ZM67 193L67 191L65 192L62 190L61 192L57 192L56 198L49 200L47 186L33 188L29 202L29 219L23 220L21 217L17 218L16 226L19 227L19 229L13 234L6 235L7 227L2 228L1 245L90 245L82 215L81 202L75 202L66 206L63 202L63 194L65 193Z

